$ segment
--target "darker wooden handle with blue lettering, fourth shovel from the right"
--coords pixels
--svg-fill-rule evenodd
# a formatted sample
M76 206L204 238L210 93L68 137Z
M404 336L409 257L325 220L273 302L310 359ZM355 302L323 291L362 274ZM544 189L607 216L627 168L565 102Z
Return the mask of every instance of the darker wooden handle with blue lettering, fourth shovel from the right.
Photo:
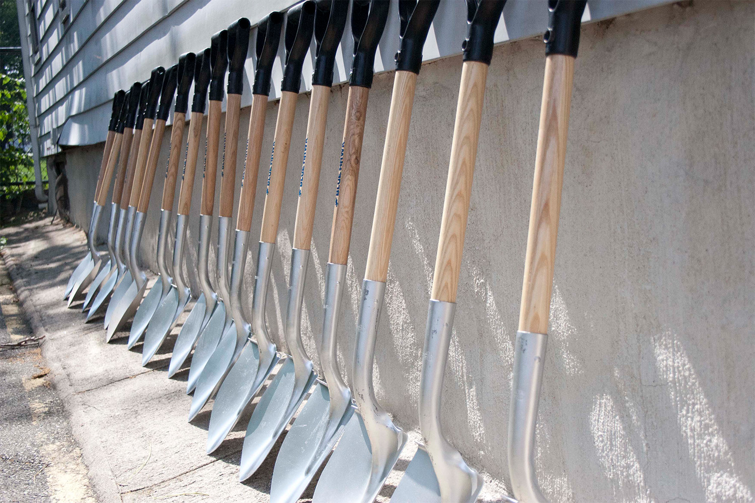
M356 184L359 182L359 163L362 161L362 139L365 136L369 92L368 87L349 87L344 141L341 146L341 166L338 168L331 244L328 252L328 262L333 264L346 264L349 258L351 226L356 206Z

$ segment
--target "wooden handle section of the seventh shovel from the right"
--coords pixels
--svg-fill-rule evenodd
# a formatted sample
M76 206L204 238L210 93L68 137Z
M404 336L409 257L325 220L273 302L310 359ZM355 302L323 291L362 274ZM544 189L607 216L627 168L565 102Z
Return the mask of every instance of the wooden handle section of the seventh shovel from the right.
M251 228L254 195L257 192L257 175L260 173L262 137L265 133L265 115L267 115L267 94L252 94L249 133L246 140L246 160L241 179L241 194L239 195L239 215L236 218L236 229L239 231L249 232Z

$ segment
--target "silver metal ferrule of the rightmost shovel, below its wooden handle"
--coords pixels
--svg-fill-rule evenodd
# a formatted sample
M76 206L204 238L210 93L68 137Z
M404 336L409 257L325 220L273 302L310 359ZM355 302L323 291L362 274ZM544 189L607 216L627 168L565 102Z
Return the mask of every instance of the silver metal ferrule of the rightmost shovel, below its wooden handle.
M535 426L547 341L545 333L516 333L508 454L511 488L519 501L548 501L535 473Z

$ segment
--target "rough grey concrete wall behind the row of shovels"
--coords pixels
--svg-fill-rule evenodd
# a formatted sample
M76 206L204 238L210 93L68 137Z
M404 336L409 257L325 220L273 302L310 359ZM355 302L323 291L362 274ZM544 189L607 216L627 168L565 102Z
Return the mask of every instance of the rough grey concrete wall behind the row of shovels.
M553 501L753 499L753 18L753 3L683 2L584 28L538 422L538 474ZM488 494L505 490L508 480L510 374L543 50L529 39L494 54L445 379L445 431L468 462L487 472ZM460 75L461 57L453 57L424 66L419 77L377 342L377 397L408 430L418 424L421 348ZM347 377L392 84L392 74L379 75L368 106L339 339ZM346 99L347 87L332 91L303 323L313 356ZM300 96L267 313L281 348L308 106L309 97ZM271 103L255 235L276 112ZM244 131L248 115L242 113ZM162 150L164 166L167 142ZM82 226L99 152L101 146L67 153L72 208ZM153 270L161 189L157 176L142 244ZM198 182L195 211L199 195ZM190 243L196 237L195 216ZM248 290L256 253L253 244ZM195 259L192 250L189 270Z

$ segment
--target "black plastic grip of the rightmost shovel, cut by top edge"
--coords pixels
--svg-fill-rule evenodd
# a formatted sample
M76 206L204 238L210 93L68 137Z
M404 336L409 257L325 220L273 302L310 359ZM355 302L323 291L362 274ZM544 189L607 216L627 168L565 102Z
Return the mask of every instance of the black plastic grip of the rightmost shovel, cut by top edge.
M543 35L546 56L577 57L585 5L587 0L548 0L548 29Z

